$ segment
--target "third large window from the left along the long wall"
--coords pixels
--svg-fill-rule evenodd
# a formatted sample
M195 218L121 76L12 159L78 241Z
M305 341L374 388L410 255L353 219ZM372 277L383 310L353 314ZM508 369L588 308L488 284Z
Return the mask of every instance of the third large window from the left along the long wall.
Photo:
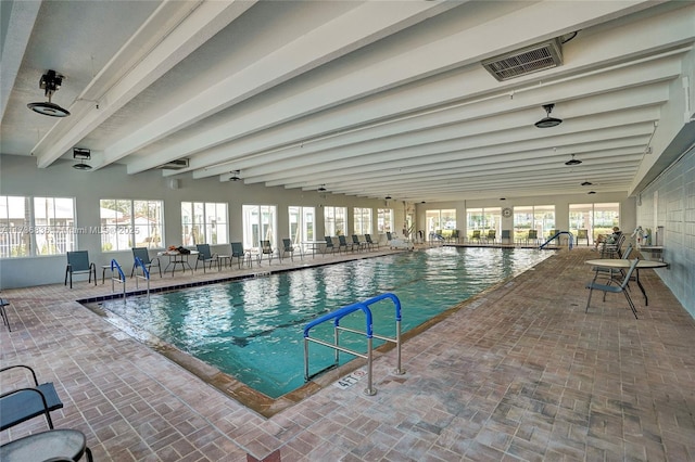
M184 245L229 244L227 204L181 202L181 242Z

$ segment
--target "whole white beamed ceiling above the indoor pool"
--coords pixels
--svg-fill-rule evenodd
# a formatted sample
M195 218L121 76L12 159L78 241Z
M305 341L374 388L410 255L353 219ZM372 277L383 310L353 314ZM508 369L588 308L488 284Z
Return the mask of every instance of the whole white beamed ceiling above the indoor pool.
M1 152L38 168L84 147L94 169L188 159L162 175L379 198L630 194L695 140L694 2L2 9ZM548 39L557 67L497 81L481 65ZM48 69L68 117L26 107ZM546 104L563 123L536 128Z

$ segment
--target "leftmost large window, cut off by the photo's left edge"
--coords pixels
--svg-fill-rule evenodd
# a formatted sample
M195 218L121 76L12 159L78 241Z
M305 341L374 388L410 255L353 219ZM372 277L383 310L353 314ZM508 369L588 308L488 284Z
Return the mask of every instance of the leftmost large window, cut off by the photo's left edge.
M77 233L73 198L0 196L0 258L64 254Z

